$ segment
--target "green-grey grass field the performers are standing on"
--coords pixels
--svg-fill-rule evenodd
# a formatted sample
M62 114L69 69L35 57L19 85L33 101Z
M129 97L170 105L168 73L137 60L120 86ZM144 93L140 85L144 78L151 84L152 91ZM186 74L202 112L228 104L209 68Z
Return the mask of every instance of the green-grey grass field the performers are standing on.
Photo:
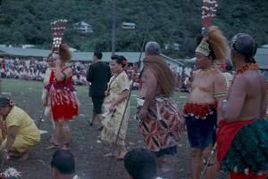
M128 178L122 161L112 160L110 175L106 175L106 170L110 159L103 157L103 154L109 151L105 142L98 138L99 132L96 126L89 126L91 120L92 103L88 97L88 86L76 86L80 100L80 116L75 118L71 126L71 151L74 153L77 163L77 173L81 179L124 179ZM42 113L42 83L32 81L21 81L15 79L2 80L2 95L12 98L15 103L23 110L29 112L29 115L38 121ZM140 134L138 133L138 121L133 117L136 111L137 92L133 92L130 98L130 122L127 134L128 150L136 147L145 147ZM176 93L173 101L176 102L181 111L182 105L186 102L188 94ZM41 129L51 132L52 126L46 118L41 123ZM23 162L10 160L1 168L4 171L7 167L15 167L21 171L23 179L46 179L50 178L49 162L53 150L46 151L50 135L42 134L41 142L30 151L29 159ZM178 154L169 157L167 167L172 172L163 175L164 179L189 179L190 177L190 156L187 135L183 134L179 143ZM222 178L222 177L219 177Z

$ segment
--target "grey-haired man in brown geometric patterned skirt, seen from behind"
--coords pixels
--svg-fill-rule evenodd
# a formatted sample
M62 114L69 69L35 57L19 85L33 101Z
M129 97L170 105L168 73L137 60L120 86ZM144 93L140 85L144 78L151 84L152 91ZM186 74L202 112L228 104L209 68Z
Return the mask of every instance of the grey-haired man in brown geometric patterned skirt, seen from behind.
M157 158L158 172L163 172L164 155L177 153L180 139L180 126L183 118L170 97L175 89L172 70L160 54L156 42L148 42L145 49L142 87L138 99L139 130L146 142L147 149Z

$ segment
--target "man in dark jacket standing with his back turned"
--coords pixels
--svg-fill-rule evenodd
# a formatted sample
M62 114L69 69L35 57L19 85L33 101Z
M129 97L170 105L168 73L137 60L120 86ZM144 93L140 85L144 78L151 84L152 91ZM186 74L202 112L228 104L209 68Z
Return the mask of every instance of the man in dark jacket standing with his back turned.
M105 91L107 89L107 83L111 77L111 69L105 62L100 61L103 54L95 52L93 55L93 64L89 66L87 73L87 80L91 84L89 87L89 96L91 96L93 102L93 118L90 126L93 125L95 118L99 121L101 130L102 126L102 105L105 99Z

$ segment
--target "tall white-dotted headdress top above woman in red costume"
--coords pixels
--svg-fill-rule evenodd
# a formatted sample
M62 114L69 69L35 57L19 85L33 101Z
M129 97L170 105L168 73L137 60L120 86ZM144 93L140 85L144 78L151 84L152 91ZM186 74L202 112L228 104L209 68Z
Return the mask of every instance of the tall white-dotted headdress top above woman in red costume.
M52 53L59 53L60 45L63 43L64 30L68 20L54 20L51 23L52 29Z

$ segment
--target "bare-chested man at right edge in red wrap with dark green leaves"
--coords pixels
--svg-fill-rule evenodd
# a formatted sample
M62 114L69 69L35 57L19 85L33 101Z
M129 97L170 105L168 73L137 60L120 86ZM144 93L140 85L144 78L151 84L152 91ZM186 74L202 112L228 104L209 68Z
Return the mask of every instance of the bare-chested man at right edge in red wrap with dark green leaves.
M236 76L217 132L217 154L230 179L265 179L268 171L268 121L265 84L254 60L253 37L239 33L231 40L231 61Z

